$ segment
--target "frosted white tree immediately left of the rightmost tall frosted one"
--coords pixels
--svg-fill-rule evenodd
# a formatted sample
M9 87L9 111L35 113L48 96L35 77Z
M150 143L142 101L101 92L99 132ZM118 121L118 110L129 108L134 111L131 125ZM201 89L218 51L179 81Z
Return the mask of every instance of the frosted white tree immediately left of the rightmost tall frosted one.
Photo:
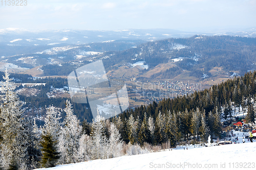
M107 146L108 139L104 134L104 117L99 114L93 119L92 123L92 159L106 159L108 158Z

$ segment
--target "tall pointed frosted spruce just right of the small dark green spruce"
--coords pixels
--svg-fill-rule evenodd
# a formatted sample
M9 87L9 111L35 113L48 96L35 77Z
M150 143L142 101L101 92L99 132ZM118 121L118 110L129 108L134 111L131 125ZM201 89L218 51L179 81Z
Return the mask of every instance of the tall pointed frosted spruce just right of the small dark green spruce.
M66 117L63 121L64 127L61 128L58 142L58 151L61 157L58 160L60 164L75 163L79 161L78 148L79 138L81 136L82 127L73 114L72 104L66 101Z

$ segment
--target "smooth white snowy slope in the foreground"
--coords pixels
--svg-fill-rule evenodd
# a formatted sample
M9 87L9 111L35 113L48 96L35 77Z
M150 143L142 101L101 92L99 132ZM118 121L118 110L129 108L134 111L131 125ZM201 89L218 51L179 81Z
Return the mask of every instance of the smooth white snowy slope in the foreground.
M92 160L41 169L169 169L171 165L181 166L181 168L172 169L200 169L200 166L201 169L255 169L255 155L256 142L254 140L253 143L226 144L205 148L191 147L188 150L173 149L172 151ZM239 163L244 168L241 168ZM223 164L225 164L225 168ZM249 164L250 168L248 168Z

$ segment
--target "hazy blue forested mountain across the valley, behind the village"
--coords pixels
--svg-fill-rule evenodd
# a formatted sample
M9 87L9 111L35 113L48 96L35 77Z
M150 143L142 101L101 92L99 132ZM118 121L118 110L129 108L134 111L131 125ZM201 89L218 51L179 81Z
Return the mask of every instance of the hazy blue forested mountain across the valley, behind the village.
M197 77L203 73L210 76L208 72L213 67L223 67L225 71L238 71L243 75L247 70L254 69L256 61L256 39L247 37L231 36L193 36L190 38L166 39L148 42L138 45L137 48L122 52L114 52L103 59L108 69L114 69L114 65L123 63L135 63L145 61L150 68L166 62L175 62L177 68L190 70ZM105 56L101 54L100 56ZM176 69L177 70L177 69ZM179 74L179 71L172 71L169 76ZM162 74L165 75L170 70ZM168 78L168 76L164 76Z

